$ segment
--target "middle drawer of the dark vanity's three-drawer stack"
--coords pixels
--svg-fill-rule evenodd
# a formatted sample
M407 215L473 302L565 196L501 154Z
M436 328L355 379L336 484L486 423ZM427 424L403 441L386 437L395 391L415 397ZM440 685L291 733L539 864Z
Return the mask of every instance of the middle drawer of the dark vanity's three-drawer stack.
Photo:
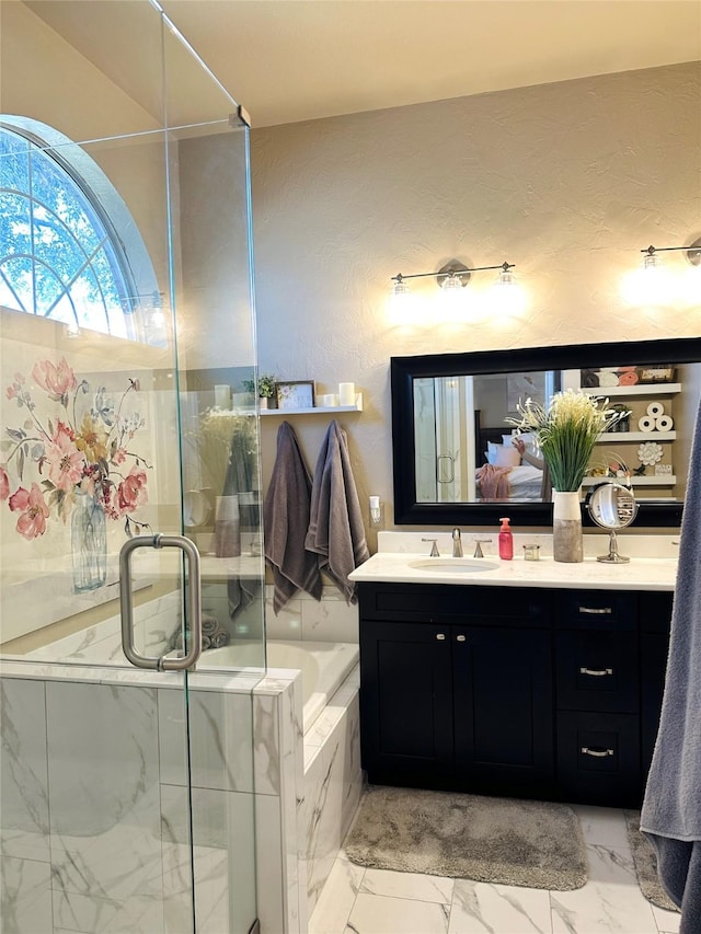
M560 632L555 646L559 708L639 712L636 633Z

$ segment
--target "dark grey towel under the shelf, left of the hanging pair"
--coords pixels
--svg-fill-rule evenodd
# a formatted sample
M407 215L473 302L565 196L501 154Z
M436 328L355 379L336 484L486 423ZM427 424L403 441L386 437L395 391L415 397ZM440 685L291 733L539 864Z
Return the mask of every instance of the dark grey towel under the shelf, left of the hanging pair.
M298 589L321 600L317 555L304 549L309 528L311 477L289 422L277 431L277 454L263 504L265 557L273 569L275 614Z

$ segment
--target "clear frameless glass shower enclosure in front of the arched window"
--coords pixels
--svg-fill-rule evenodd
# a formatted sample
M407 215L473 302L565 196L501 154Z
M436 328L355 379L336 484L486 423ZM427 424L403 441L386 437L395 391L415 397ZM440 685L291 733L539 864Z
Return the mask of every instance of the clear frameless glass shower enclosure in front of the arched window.
M257 419L219 403L254 373L248 128L147 0L39 13L0 8L2 929L246 934ZM223 666L125 659L133 537L135 650L191 647L159 534L200 554Z

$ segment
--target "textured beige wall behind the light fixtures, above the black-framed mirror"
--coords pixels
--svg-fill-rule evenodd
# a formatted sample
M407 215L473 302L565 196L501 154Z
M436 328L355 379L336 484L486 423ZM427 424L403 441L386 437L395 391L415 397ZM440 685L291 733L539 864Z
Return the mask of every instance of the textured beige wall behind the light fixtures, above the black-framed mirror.
M365 412L341 420L388 528L391 356L701 333L698 308L619 295L642 247L701 234L701 62L254 129L252 165L261 367L321 392L355 380ZM528 312L392 324L390 277L452 257L516 263ZM313 469L329 419L290 420Z

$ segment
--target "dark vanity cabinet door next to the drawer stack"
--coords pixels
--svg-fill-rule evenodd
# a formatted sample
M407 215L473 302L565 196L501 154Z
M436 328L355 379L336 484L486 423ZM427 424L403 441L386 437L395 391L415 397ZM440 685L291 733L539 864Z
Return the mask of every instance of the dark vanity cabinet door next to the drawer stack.
M552 794L550 633L455 626L452 650L460 789Z

